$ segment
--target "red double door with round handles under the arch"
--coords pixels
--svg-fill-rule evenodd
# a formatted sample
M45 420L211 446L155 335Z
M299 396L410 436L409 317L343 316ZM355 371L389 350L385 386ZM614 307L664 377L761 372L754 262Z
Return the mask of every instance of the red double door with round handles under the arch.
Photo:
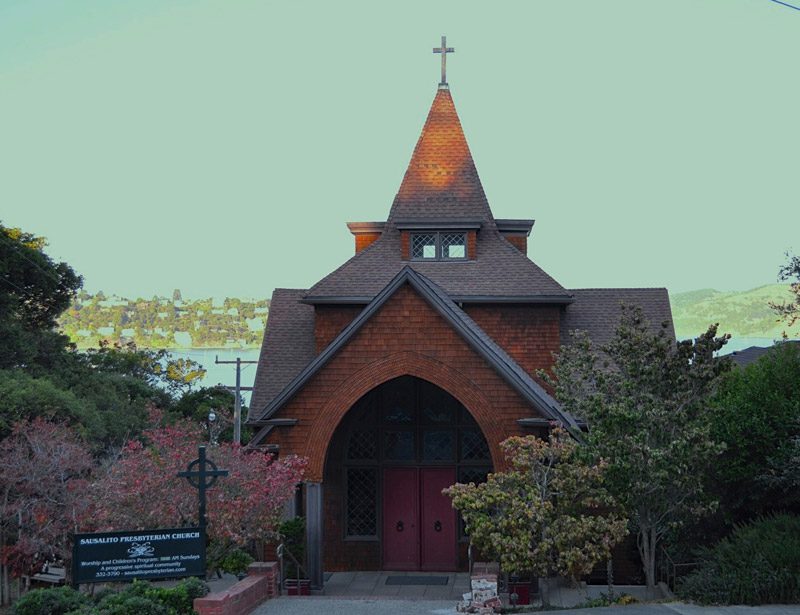
M455 570L456 513L442 495L455 482L455 468L384 470L384 570Z

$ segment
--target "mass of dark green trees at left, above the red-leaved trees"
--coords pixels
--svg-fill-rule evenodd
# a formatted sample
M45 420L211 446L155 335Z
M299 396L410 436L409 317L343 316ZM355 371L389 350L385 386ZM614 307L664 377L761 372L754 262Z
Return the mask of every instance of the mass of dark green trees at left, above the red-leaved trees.
M45 245L0 225L0 439L16 421L43 417L75 427L97 453L139 434L151 406L169 410L203 372L134 345L76 352L54 330L62 312L86 312L95 327L122 322L125 312L103 311L102 293L73 303L81 278Z

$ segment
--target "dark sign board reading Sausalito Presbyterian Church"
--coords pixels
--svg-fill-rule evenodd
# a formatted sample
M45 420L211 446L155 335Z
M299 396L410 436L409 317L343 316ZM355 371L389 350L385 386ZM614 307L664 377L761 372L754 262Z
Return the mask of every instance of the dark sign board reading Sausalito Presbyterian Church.
M204 577L203 528L75 534L72 582Z

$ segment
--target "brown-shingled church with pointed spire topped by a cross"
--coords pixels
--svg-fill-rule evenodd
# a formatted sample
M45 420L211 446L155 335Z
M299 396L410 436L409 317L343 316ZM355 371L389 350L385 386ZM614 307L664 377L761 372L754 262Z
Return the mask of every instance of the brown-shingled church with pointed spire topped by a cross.
M623 302L672 320L664 288L568 289L528 258L534 221L495 218L445 78L451 50L435 51L441 83L386 220L349 222L352 258L272 295L251 446L308 458L316 587L323 570L466 569L442 489L502 469L509 436L580 428L537 370L572 330L608 341Z

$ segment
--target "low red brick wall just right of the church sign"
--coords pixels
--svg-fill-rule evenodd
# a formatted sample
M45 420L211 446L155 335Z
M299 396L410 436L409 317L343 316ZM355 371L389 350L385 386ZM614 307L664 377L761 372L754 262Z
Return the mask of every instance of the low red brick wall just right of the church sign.
M278 595L278 563L254 562L247 576L222 592L195 598L199 615L245 615L259 604Z

